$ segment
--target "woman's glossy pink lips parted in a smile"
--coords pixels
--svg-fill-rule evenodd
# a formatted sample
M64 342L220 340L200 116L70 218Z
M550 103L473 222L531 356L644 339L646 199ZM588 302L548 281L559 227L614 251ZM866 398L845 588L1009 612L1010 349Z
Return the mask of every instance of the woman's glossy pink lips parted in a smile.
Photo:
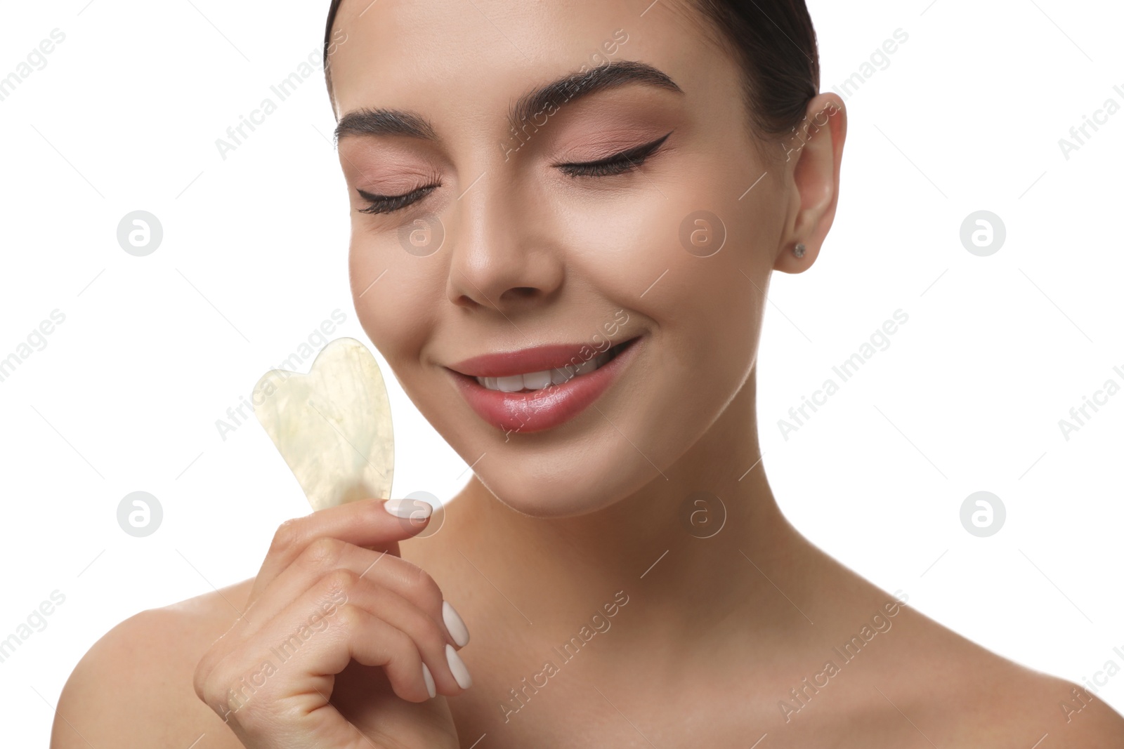
M540 346L508 354L490 354L465 359L446 367L461 394L480 418L505 432L523 433L553 429L581 413L616 381L636 356L643 336L635 336L616 356L589 374L578 375L561 385L547 385L529 393L505 393L488 390L477 377L505 377L524 372L561 368L580 348L573 346ZM619 344L618 344L619 345ZM464 372L468 369L473 374Z

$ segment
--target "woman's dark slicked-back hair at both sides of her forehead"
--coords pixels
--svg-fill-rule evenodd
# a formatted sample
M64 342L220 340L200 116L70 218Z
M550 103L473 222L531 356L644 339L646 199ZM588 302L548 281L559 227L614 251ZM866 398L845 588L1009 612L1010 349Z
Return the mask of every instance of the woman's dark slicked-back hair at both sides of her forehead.
M343 0L332 0L324 29L324 77L332 95L328 48ZM765 135L789 133L819 92L816 31L805 0L688 0L741 64L742 100Z

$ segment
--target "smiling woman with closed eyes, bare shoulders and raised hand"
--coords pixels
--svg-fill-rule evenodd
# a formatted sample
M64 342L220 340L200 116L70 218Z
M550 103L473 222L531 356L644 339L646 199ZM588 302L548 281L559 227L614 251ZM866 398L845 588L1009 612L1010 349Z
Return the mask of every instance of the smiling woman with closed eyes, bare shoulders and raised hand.
M53 746L1124 746L778 510L764 294L846 134L801 0L337 0L325 49L356 312L474 476L123 622Z

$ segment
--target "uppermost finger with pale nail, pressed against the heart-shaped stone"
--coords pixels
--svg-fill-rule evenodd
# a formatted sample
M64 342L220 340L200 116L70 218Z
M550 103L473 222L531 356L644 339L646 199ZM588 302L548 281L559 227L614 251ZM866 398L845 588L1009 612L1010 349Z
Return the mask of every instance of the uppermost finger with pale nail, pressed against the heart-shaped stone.
M407 517L392 514L391 511ZM261 595L270 582L317 538L327 536L360 547L392 549L397 556L397 541L426 528L430 515L432 508L420 500L370 499L287 520L273 535L247 603Z

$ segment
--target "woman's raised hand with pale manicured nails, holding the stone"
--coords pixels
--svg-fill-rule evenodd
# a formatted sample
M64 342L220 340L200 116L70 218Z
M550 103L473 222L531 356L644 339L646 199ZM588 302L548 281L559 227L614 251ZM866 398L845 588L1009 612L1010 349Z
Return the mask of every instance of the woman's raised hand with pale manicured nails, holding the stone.
M471 685L453 638L463 646L468 630L455 611L446 625L441 588L398 549L428 524L427 506L361 500L278 528L245 613L194 674L196 694L245 747L460 746L442 695Z

